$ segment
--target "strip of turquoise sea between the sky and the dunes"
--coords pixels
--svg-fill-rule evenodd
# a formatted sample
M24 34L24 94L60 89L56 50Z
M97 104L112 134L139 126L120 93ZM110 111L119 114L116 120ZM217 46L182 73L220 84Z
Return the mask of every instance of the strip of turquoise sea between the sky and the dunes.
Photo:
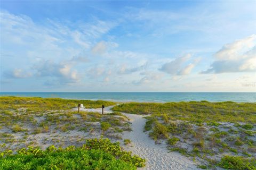
M113 101L236 101L256 102L256 92L0 92L0 96L36 96L43 98Z

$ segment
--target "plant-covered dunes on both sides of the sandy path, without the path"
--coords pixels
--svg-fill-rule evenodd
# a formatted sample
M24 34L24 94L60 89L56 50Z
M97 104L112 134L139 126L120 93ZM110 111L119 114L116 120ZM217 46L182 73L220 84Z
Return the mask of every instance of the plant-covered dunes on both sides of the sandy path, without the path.
M0 97L0 169L144 166L144 159L123 151L118 143L102 139L133 145L133 139L122 140L123 132L131 131L131 120L126 117L129 114L121 112L145 115L146 124L145 120L142 124L151 139L166 143L167 150L187 156L199 168L256 169L255 103L125 103L104 115L73 111L71 108L78 103L86 108L116 104L101 100Z

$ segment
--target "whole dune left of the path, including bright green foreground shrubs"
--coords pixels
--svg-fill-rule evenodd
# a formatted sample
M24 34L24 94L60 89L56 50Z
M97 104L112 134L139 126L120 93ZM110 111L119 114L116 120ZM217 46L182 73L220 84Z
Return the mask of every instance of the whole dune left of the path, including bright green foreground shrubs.
M86 108L115 105L101 100L0 97L0 169L145 166L145 159L123 151L118 142L103 139L121 140L120 134L131 130L127 117L117 112L72 111L77 104Z

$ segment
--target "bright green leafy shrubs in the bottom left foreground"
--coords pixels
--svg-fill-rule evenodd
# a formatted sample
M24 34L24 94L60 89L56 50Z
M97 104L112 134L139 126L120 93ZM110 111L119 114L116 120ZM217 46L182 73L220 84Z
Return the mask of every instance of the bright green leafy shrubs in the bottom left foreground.
M65 149L51 146L46 150L29 147L0 154L0 169L136 169L145 159L122 151L109 139L87 139L83 147Z

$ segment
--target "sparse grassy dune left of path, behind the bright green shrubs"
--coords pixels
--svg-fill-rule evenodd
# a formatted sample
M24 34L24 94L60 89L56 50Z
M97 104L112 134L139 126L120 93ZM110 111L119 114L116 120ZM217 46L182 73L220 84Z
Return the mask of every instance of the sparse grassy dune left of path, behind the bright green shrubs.
M115 104L100 100L0 97L0 145L6 143L6 148L15 150L31 145L81 146L86 135L122 139L120 133L131 130L127 117L121 113L102 115L72 111L70 108L78 103L86 108ZM70 140L67 140L67 135ZM1 151L3 148L0 148Z

